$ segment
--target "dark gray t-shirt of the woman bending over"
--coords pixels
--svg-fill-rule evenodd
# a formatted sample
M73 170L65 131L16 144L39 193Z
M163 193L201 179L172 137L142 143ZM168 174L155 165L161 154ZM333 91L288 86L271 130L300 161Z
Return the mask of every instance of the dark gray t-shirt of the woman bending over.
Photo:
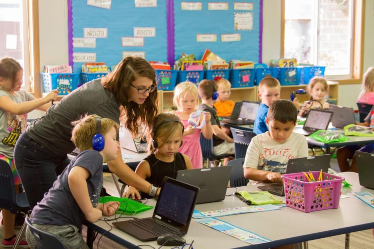
M101 79L83 84L50 107L47 112L27 127L27 134L43 147L57 154L74 150L71 142L71 122L84 114L97 114L119 124L119 102L113 93L104 89ZM117 136L117 141L119 137Z

